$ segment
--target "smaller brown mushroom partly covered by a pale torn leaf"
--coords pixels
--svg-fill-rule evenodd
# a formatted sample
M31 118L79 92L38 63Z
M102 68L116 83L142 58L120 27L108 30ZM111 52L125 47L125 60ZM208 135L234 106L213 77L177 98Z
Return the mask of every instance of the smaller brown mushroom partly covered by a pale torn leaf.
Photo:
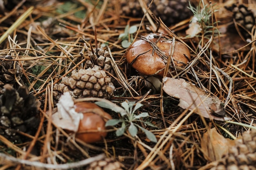
M106 130L106 121L112 119L108 113L97 104L89 102L76 103L74 108L77 113L83 113L83 119L81 119L76 132L76 138L86 143L94 143L107 136L107 132L102 132L102 130ZM95 130L95 132L89 132L92 130Z

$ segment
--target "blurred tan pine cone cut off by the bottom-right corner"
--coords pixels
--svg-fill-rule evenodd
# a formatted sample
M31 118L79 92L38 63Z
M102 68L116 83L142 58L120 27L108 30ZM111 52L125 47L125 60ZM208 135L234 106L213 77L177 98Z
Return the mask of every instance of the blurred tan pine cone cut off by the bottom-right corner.
M256 130L244 132L228 155L210 170L256 170Z

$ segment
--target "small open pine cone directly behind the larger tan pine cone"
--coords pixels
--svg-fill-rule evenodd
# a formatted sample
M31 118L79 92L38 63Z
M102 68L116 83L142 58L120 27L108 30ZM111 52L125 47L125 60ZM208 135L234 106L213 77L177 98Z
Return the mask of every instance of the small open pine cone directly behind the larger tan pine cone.
M86 60L85 68L92 68L94 65L100 66L103 70L108 71L112 75L114 74L114 70L111 65L111 59L108 51L103 49L93 49L90 52L91 60ZM93 62L93 64L92 64Z

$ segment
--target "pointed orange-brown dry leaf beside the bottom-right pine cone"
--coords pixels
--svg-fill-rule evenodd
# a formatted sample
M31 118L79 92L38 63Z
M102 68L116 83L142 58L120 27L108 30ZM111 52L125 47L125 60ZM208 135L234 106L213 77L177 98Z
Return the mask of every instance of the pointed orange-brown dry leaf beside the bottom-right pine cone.
M204 133L201 140L201 148L206 159L216 161L228 153L228 148L235 145L235 141L220 135L216 128L211 128Z

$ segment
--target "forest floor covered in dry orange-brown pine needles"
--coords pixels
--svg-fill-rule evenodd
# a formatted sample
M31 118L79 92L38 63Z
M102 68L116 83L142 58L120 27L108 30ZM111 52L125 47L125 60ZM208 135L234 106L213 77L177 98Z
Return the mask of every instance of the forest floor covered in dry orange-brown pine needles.
M10 6L1 5L0 62L12 61L12 68L20 67L21 74L16 72L11 83L3 82L2 77L11 70L0 65L0 170L82 170L89 166L89 157L94 162L111 158L121 163L124 170L207 170L215 166L212 162L226 155L243 132L256 129L255 22L245 33L238 29L234 11L225 8L240 3L255 12L256 2L192 3L195 9L205 12L197 16L203 22L193 26L193 14L171 26L150 15L121 15L118 0L13 0ZM171 78L164 78L159 89L150 87L146 77L126 60L133 39L155 32L176 42L176 46L181 42L191 55L188 62L177 68L171 59L166 60L174 66L170 65L169 73L167 67L163 68L164 75ZM98 101L99 106L105 103L103 109L115 122L103 140L89 144L75 138L70 127L63 128L52 118L58 103L56 96L61 96L53 87L61 84L63 77L70 77L73 70L85 69L86 61L92 60L90 53L96 55L99 49L110 54L111 69L106 75L115 90L110 90L106 100L91 96L74 102ZM141 67L151 66L142 63ZM162 81L162 77L158 78ZM36 127L15 132L21 140L13 140L4 131L9 128L4 126L2 110L9 96L4 94L6 84L11 84L15 91L19 86L27 86L29 94L40 102L36 103ZM201 97L199 102L189 99L193 95ZM202 103L205 106L200 108ZM66 126L71 126L69 123Z

